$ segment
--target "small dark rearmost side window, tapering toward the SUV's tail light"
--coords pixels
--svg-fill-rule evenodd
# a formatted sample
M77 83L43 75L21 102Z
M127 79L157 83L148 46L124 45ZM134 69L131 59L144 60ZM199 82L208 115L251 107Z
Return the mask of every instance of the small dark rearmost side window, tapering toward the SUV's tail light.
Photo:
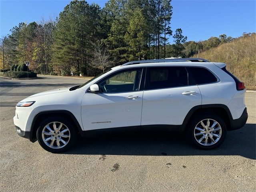
M212 72L202 67L189 67L196 84L208 84L217 82L218 79Z

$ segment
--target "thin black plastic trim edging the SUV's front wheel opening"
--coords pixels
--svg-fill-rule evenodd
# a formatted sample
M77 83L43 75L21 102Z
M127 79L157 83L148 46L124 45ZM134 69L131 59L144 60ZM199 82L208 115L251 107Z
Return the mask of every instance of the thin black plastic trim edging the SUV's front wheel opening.
M72 118L72 120L74 121L76 127L78 128L78 131L79 133L81 134L82 137L86 137L86 134L84 133L84 131L82 130L82 128L80 127L80 124L78 123L78 121L76 120L75 116L70 112L70 111L67 111L67 110L49 110L49 111L42 111L42 112L38 112L35 116L34 116L34 119L32 121L32 125L31 125L31 134L30 134L30 137L29 137L29 140L31 142L35 142L36 139L33 138L34 136L34 130L36 129L35 128L35 123L36 123L36 120L38 118L38 116L42 115L42 114L51 114L51 113L64 113L64 114L68 114L68 116L70 116L70 118Z

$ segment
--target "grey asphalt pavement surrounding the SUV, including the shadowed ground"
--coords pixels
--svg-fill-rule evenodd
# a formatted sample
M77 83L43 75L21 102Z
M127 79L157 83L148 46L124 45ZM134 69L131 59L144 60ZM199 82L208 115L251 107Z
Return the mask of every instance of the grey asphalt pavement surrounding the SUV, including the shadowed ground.
M249 118L214 150L198 150L181 134L80 140L64 154L16 134L17 102L84 79L0 78L0 191L256 191L256 94Z

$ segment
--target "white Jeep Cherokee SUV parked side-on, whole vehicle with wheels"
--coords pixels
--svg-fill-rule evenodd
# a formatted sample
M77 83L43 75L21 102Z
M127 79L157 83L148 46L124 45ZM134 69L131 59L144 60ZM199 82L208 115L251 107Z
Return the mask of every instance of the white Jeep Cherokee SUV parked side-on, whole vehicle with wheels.
M134 61L83 85L34 94L16 106L18 135L50 152L78 135L185 132L198 147L219 146L248 114L245 86L226 64L201 58Z

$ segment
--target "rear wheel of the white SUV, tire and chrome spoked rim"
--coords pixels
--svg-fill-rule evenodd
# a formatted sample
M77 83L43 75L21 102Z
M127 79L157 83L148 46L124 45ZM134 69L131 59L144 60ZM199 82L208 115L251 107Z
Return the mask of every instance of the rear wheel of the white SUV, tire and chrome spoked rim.
M190 142L196 147L206 150L220 146L225 140L226 134L227 127L224 120L212 113L193 116L187 129Z

